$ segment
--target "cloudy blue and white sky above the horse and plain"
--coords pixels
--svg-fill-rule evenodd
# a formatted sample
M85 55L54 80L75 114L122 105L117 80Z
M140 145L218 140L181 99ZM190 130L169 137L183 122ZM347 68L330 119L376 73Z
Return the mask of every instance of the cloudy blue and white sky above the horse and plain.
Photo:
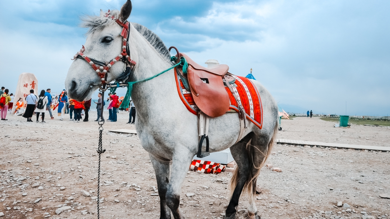
M80 16L124 2L0 1L0 86L15 92L19 74L31 72L39 89L60 92L70 58L85 42ZM216 59L240 76L252 68L285 111L387 115L389 6L380 0L134 0L129 21L201 64Z

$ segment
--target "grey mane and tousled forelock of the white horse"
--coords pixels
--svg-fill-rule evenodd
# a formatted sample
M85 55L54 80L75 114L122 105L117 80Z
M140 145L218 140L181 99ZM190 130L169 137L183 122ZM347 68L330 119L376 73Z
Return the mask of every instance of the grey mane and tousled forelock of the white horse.
M101 12L100 16L87 15L83 17L81 19L83 22L80 24L80 27L88 28L88 31L86 33L88 35L92 32L102 30L108 24L115 23L115 21L113 21L112 19L106 18L104 14L105 13ZM110 15L117 18L119 16L119 11L118 10L110 11ZM168 63L172 64L172 62L170 62L170 54L168 48L167 46L165 46L164 42L157 34L155 34L145 26L140 25L138 23L131 23L131 24L140 34L142 34L142 36L145 37L145 39L154 47L154 49L156 49L156 51L160 53L160 55L167 60Z

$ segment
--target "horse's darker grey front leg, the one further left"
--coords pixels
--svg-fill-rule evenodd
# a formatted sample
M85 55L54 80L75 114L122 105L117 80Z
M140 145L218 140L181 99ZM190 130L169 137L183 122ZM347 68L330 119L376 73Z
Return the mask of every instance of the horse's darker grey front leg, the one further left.
M149 154L152 162L154 173L156 173L156 180L158 186L158 196L160 196L160 219L170 219L170 210L167 206L167 199L165 194L167 193L168 177L169 177L169 160L161 161Z

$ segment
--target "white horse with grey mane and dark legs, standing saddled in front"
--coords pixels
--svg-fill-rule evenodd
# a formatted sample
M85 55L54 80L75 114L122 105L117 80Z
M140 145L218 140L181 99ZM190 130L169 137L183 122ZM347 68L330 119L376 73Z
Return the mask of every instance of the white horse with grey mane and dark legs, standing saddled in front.
M128 0L121 11L110 12L111 16L125 22L130 16L131 2ZM110 17L111 17L110 16ZM105 12L100 16L84 19L83 27L89 28L84 54L96 60L110 62L121 53L122 27ZM137 62L127 81L137 81L154 76L172 67L170 53L161 39L137 23L130 23L128 46L131 58ZM125 63L112 65L106 81L122 77ZM137 83L131 96L136 108L136 129L142 147L149 152L160 196L161 219L183 219L180 212L180 188L198 149L198 118L184 106L176 88L174 70L157 78ZM238 143L240 121L238 113L226 113L210 118L210 152L230 147L237 167L230 182L230 202L225 218L236 216L236 207L243 190L247 191L250 207L248 216L257 219L255 188L257 177L270 154L278 130L278 107L268 90L258 81L252 80L262 100L263 125L259 129L247 122L244 136ZM101 78L85 60L76 58L71 64L65 86L69 97L78 101L89 99L101 85ZM170 161L172 161L170 174ZM169 177L169 176L174 177Z

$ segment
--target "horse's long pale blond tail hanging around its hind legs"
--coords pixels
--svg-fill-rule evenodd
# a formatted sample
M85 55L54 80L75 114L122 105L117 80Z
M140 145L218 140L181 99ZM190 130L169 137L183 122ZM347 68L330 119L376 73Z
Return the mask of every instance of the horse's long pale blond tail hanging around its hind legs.
M246 191L248 193L249 203L254 203L254 201L255 201L257 177L259 176L261 168L266 163L269 155L272 152L273 147L275 146L276 138L277 138L277 134L278 134L278 129L279 129L279 124L277 121L275 124L275 128L273 130L272 138L268 143L268 147L266 148L265 153L260 151L259 148L256 148L253 145L251 145L252 139L249 140L248 143L246 144L246 152L248 153L248 157L249 157L249 161L250 161L251 165L250 165L248 179L245 182L243 191ZM257 154L262 154L264 156L259 156ZM260 157L262 157L262 161L260 162L260 165L257 165L259 163L258 158L260 158ZM238 167L236 166L236 168L234 168L234 173L233 173L233 176L232 176L232 178L230 180L230 184L229 184L230 199L232 198L232 195L233 195L234 189L236 188L238 180L239 180L239 171L238 171Z

